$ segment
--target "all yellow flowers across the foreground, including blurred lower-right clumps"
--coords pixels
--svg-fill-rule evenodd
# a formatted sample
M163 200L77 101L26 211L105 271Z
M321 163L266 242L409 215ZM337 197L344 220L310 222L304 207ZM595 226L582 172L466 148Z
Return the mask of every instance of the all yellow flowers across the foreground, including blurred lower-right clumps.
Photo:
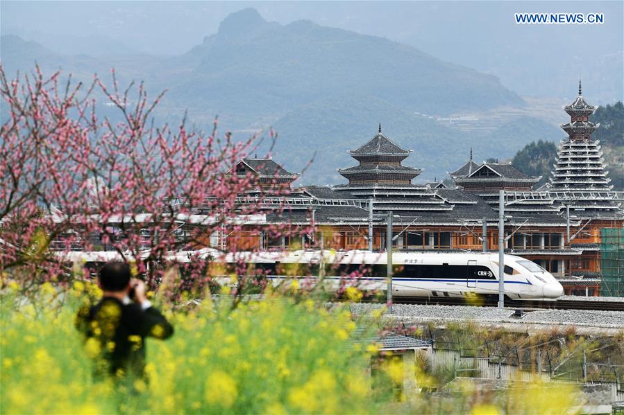
M175 333L146 340L148 380L97 381L100 346L84 342L74 318L99 290L46 283L26 300L18 288L8 283L0 294L1 414L574 414L571 405L582 405L571 385L518 382L483 394L465 378L444 394L380 400L369 365L378 355L371 324L382 321L366 329L348 306L275 293L164 306ZM389 382L403 377L392 360L381 368ZM437 370L417 364L418 385L435 385Z

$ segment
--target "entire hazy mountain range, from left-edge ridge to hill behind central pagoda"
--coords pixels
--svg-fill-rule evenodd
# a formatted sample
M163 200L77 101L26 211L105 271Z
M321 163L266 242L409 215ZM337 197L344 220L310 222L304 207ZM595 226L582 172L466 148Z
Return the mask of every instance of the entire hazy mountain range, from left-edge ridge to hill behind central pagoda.
M179 121L188 111L193 125L208 130L219 114L220 130L240 139L274 125L280 133L276 159L287 167L301 170L317 152L305 182L341 182L335 169L351 164L346 151L370 139L379 122L391 139L414 149L407 164L425 168L423 179L442 177L464 161L471 144L485 154L496 140L473 139L414 113L525 105L495 76L412 46L312 21L269 22L251 8L229 15L187 53L168 58L126 51L106 58L65 55L16 37L2 37L1 44L2 61L12 70L30 70L36 60L44 69L61 67L90 80L114 66L120 85L145 80L152 96L168 89L155 112L159 121Z

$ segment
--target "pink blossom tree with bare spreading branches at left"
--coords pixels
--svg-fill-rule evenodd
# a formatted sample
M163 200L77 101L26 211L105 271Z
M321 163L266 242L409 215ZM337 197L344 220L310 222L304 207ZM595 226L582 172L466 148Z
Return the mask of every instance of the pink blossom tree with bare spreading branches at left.
M220 136L216 117L210 134L187 129L184 119L156 126L163 94L150 99L142 84L121 90L114 71L108 87L97 76L89 85L61 83L60 73L38 68L8 79L0 67L0 91L0 270L24 290L65 281L64 258L76 250L115 251L155 285L172 251L260 227L247 219L262 215L266 192L242 203L259 184L230 172L257 136ZM99 117L104 104L121 121ZM269 193L280 190L276 182ZM262 228L293 232L287 224ZM207 282L202 261L183 267L190 281Z

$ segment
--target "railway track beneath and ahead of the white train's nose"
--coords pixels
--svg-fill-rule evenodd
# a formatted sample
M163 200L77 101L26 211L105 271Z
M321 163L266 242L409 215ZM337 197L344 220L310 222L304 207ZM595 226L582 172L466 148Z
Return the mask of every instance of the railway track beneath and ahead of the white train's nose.
M378 301L385 301L381 297ZM461 298L432 298L432 297L394 297L395 304L423 304L431 306L483 306L496 307L496 299L461 299ZM624 311L624 301L579 301L579 300L556 300L556 301L518 301L505 300L505 308L521 310L600 310L600 311Z

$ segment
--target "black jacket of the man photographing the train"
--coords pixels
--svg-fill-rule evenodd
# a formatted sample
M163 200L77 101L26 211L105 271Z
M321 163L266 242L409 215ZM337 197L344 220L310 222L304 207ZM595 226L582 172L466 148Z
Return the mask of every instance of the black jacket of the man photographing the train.
M166 339L174 328L158 310L138 303L124 304L114 297L104 297L92 307L83 307L76 316L76 328L87 339L99 343L100 361L96 376L144 376L145 337Z

